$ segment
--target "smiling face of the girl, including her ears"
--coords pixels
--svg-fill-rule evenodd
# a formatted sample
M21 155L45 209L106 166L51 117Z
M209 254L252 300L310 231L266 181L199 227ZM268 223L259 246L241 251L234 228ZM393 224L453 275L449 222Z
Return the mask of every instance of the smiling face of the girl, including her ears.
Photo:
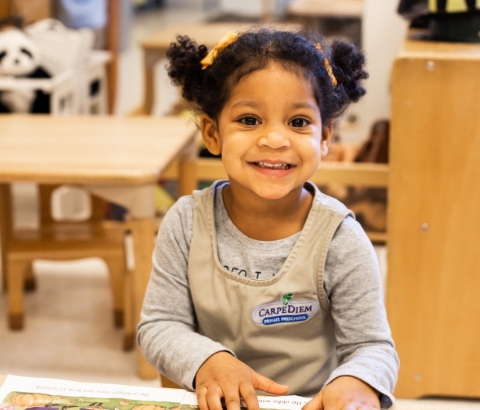
M222 154L232 189L265 199L300 192L326 155L332 133L323 127L310 83L280 65L243 77L218 122L201 119L213 154Z

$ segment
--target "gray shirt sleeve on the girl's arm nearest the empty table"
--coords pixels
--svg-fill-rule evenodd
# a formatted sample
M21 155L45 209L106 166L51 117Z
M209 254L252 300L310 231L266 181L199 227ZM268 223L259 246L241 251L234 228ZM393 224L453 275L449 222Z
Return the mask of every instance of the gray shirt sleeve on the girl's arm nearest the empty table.
M138 344L150 364L175 383L193 389L200 366L228 351L196 333L187 262L193 227L193 197L167 212L157 236L153 269L143 302Z

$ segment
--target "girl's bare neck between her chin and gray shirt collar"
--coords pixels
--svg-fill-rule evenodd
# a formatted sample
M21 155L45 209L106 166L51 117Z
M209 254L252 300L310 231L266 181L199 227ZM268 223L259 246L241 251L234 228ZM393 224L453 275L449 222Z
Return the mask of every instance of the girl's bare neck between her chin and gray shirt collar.
M223 202L234 225L259 241L275 241L300 232L312 201L312 194L303 187L276 200L261 198L235 182L223 189Z

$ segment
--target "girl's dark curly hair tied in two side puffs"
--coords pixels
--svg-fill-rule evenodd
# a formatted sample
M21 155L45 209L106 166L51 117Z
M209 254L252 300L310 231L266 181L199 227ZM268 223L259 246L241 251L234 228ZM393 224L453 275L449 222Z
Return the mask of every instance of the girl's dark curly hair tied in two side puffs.
M322 45L322 53L315 44ZM178 36L167 51L168 75L182 87L182 96L213 119L218 116L240 79L274 62L286 70L301 73L310 81L324 124L339 117L351 102L365 94L361 81L365 56L352 44L334 40L329 46L310 32L259 28L242 32L222 50L212 65L202 70L205 45L188 36ZM327 58L338 84L333 85L325 67Z

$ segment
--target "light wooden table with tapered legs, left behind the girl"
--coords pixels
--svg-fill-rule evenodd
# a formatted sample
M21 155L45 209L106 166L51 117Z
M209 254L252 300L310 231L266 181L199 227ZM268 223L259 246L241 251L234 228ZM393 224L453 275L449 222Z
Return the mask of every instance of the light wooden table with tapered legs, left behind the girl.
M0 227L8 222L2 193L12 182L80 184L126 207L135 257L132 314L138 323L154 247L154 185L178 159L180 195L196 188L195 132L181 118L0 116ZM139 351L138 371L143 378L158 377Z

